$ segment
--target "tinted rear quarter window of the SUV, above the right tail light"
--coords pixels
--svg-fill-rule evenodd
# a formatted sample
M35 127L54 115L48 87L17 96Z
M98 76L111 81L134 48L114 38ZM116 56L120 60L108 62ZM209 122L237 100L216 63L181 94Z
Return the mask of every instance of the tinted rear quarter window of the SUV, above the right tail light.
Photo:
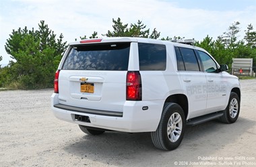
M166 46L139 43L139 70L165 70Z

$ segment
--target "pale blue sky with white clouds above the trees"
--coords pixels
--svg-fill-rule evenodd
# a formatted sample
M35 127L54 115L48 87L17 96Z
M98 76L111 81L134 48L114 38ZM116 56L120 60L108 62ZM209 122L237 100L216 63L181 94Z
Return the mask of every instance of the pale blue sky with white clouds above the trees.
M256 0L1 0L0 7L0 64L11 60L4 45L12 30L37 30L40 20L67 42L94 31L106 34L117 17L123 23L139 19L151 31L156 27L161 37L199 41L207 35L215 40L234 21L241 22L240 38L249 23L256 30Z

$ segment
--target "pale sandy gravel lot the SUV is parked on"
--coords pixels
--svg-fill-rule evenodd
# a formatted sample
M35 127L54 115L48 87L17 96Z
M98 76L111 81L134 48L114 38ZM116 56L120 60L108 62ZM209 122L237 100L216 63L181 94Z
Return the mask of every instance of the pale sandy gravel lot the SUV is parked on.
M53 90L0 91L0 166L256 166L256 80L241 80L238 121L188 127L181 146L154 148L150 133L84 134L53 116Z

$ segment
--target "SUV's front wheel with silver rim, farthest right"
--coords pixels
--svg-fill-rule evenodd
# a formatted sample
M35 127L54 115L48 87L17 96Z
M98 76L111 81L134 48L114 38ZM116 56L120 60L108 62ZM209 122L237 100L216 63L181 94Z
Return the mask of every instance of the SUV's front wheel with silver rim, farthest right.
M240 113L240 99L234 92L230 93L228 106L224 110L224 115L220 117L223 123L234 123L238 119Z

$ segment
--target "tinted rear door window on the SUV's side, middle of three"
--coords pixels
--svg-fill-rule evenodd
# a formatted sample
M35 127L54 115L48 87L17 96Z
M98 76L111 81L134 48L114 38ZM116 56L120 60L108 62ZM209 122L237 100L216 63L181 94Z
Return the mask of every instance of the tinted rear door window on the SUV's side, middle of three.
M185 70L187 71L199 71L199 65L197 62L197 57L193 49L189 48L179 48L181 55L183 56Z

